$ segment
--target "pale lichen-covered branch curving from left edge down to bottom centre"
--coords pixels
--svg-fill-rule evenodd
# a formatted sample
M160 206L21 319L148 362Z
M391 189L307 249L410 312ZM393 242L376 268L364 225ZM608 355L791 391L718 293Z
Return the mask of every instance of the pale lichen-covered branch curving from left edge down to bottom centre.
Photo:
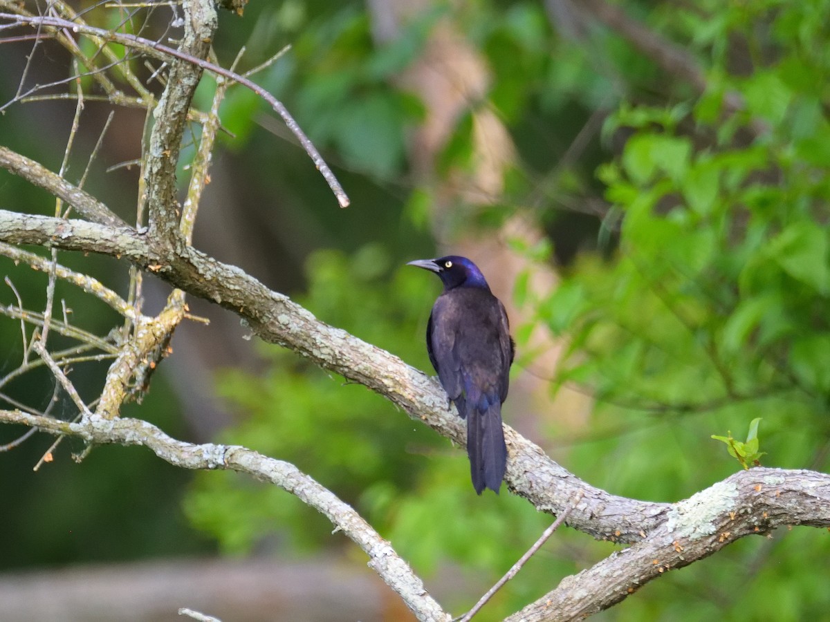
M138 419L107 420L90 415L70 423L22 411L0 411L6 423L30 425L56 435L78 436L91 444L142 445L159 458L183 469L226 469L271 482L294 494L328 518L369 556L369 566L398 592L418 620L448 622L450 615L429 595L423 582L392 545L329 489L293 464L268 458L239 445L194 445L173 439L155 425Z

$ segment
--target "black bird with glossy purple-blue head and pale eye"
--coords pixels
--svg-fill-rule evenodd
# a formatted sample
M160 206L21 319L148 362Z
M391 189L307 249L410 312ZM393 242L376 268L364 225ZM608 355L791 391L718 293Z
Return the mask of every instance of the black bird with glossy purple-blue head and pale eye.
M466 419L473 488L479 494L485 488L498 494L507 466L501 403L507 397L515 349L505 305L466 257L449 255L408 265L436 273L444 284L427 323L429 360Z

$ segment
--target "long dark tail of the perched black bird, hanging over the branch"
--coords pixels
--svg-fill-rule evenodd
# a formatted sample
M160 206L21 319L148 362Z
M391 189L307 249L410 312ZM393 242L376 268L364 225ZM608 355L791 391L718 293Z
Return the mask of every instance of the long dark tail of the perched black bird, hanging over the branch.
M473 398L473 399L471 399ZM507 469L505 433L501 428L499 396L466 395L467 455L473 488L499 493Z

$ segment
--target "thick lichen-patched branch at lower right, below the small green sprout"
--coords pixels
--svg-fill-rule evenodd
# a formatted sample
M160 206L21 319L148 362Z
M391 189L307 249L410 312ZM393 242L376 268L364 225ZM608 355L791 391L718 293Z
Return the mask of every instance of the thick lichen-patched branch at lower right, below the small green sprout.
M507 620L581 620L741 537L772 537L774 529L793 525L830 525L830 475L763 468L740 471L673 503L665 520L642 542L566 577L555 590Z

